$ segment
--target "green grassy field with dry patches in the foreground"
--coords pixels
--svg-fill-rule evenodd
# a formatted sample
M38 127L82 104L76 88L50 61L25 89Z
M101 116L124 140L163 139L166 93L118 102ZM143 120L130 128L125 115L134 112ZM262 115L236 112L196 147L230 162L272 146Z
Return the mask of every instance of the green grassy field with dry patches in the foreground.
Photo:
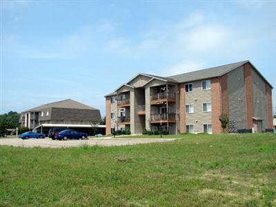
M176 137L121 147L0 146L0 206L276 206L275 134Z

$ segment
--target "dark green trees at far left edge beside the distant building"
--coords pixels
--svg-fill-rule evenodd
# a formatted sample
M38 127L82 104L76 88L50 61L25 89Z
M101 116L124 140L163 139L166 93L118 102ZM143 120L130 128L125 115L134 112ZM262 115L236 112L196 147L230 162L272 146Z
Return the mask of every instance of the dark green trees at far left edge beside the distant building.
M13 111L0 115L0 132L6 132L7 128L19 127L19 117L20 114Z

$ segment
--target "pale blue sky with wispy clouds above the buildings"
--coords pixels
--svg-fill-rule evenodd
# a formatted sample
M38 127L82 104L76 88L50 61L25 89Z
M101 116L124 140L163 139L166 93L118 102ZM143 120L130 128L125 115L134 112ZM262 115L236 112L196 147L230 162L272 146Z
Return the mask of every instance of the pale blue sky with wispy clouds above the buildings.
M140 72L248 59L276 86L276 1L0 2L0 114L74 99L103 116Z

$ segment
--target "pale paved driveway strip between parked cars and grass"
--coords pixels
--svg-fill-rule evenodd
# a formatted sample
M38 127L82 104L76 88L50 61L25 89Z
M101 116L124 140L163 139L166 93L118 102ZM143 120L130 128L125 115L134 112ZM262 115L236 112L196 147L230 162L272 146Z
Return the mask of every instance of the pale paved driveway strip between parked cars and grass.
M119 138L97 138L85 140L66 140L57 141L52 139L0 139L0 145L17 147L42 147L42 148L67 148L73 146L124 146L133 144L160 143L166 141L175 141L175 139L119 139Z

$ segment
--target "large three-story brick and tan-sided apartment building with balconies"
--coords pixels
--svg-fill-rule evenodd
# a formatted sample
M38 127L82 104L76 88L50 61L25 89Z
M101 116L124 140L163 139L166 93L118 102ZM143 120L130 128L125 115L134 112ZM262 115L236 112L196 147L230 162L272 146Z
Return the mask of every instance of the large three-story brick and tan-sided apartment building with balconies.
M230 119L229 132L272 131L272 89L250 61L170 77L139 74L105 96L106 134L219 134L221 114Z

